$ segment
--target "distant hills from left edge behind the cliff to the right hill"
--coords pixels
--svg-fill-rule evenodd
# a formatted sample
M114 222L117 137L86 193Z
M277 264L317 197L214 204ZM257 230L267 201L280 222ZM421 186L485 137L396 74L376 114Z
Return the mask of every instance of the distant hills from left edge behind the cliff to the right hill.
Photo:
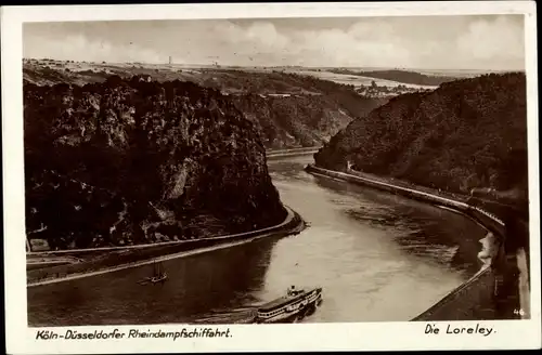
M269 69L177 68L168 66L25 61L24 78L36 84L103 82L111 75L156 81L183 80L220 90L251 120L266 148L320 146L352 119L385 98L370 98L353 87Z

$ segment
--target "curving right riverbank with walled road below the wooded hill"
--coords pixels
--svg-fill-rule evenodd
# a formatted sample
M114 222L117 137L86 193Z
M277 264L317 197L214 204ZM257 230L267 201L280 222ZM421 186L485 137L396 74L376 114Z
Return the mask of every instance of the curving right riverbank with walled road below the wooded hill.
M467 218L474 219L488 232L499 236L500 246L498 249L502 250L503 248L504 223L499 216L481 208L469 206L467 199L442 196L443 194L439 195L438 190L431 192L427 187L416 188L417 186L384 178L367 178L363 173L354 171L344 173L319 168L313 165L308 165L306 171L313 175L360 184L452 209ZM486 251L482 250L482 252ZM494 258L498 255L491 257ZM483 264L482 268L469 280L449 292L441 301L412 320L529 318L530 315L520 305L521 303L525 304L526 300L529 300L529 287L524 281L526 278L525 275L528 275L527 265L518 263L517 255L507 255L505 250L504 255L501 257L500 265L498 265L499 273L495 271L495 267L490 267L490 263ZM519 272L515 273L515 269ZM517 274L520 276L518 277ZM519 285L517 285L518 282ZM517 310L519 308L522 311L520 314L517 314Z

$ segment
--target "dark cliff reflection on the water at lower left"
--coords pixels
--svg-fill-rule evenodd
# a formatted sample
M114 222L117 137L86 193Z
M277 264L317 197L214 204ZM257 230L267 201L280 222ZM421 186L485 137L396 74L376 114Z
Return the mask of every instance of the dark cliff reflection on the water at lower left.
M153 265L28 289L30 325L191 323L250 304L275 240L262 239L163 263L164 284L139 285Z

